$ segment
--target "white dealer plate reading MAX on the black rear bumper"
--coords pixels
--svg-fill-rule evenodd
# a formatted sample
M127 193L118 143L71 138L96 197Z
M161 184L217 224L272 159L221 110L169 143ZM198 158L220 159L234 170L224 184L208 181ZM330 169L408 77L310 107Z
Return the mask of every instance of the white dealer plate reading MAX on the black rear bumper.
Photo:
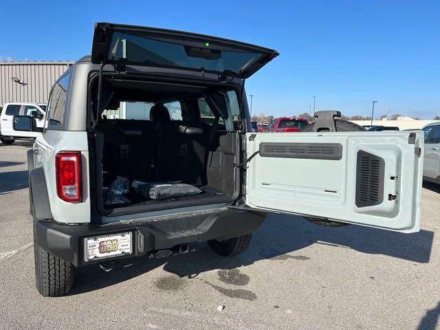
M87 237L84 240L85 261L131 254L131 232Z

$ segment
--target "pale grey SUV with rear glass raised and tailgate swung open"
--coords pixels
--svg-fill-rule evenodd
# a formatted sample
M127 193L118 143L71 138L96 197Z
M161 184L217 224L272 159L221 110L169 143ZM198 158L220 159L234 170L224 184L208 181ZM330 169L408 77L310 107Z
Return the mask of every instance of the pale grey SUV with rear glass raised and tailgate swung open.
M239 254L272 212L419 230L421 132L254 133L244 80L277 55L201 34L95 25L91 56L52 87L45 131L28 151L43 296L69 292L76 267L109 270L115 259L188 253L198 241ZM130 116L127 102L137 109ZM32 131L34 120L15 115L15 128ZM281 120L307 124L279 118L277 129Z

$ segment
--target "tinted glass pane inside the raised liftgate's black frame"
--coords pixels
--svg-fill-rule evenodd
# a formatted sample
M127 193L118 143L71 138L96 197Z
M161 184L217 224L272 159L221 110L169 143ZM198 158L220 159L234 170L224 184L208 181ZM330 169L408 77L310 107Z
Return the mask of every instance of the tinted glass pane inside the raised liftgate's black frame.
M128 63L236 73L253 65L261 56L257 52L212 50L209 43L196 48L122 32L113 34L109 51L109 59L126 58Z

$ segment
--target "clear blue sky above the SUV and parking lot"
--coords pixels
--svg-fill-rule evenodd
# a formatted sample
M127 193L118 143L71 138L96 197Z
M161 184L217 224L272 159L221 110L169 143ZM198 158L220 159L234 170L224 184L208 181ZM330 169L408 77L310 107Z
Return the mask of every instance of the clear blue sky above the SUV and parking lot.
M253 113L440 115L440 1L3 1L0 61L76 60L96 21L255 43L280 56L247 82ZM8 14L6 14L8 13Z

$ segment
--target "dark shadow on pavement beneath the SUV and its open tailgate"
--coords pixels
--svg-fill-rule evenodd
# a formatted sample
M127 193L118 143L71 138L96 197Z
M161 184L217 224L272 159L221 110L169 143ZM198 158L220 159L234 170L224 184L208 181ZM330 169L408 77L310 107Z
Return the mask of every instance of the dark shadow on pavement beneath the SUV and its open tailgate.
M300 250L314 243L334 248L351 248L367 254L384 254L417 263L428 263L434 233L421 230L415 234L399 234L357 225L328 228L310 223L300 217L276 215L267 217L259 231L254 233L248 250L239 256L221 257L206 243L196 243L196 252L170 259L124 259L115 262L115 269L105 273L98 265L78 269L77 281L70 294L94 291L140 276L164 266L166 272L179 277L195 278L211 270L232 270L252 265L265 259L306 261L313 256ZM294 252L293 254L291 254ZM93 281L91 281L93 278Z

